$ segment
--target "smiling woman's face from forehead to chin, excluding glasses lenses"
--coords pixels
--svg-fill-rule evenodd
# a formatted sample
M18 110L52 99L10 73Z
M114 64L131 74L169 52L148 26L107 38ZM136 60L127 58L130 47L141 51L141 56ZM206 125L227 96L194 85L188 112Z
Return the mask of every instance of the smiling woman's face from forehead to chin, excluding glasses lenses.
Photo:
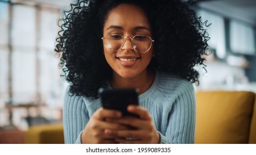
M104 36L115 33L124 37L144 34L152 38L150 23L145 12L131 4L120 4L110 11L103 33ZM153 44L149 51L141 54L133 49L131 39L125 38L124 45L118 51L109 51L104 46L104 55L113 70L114 77L125 79L142 77L147 75L146 68L153 55Z

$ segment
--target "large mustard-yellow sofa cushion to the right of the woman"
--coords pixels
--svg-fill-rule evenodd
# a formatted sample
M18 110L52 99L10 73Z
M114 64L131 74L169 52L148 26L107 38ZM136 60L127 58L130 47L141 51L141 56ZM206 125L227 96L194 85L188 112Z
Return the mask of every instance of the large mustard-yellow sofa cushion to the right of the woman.
M197 92L196 143L248 143L255 94Z

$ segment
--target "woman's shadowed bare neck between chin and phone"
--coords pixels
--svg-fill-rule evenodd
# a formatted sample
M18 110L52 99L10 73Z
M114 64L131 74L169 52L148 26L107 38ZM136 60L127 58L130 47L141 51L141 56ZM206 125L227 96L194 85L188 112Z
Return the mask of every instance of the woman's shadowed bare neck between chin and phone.
M147 91L153 83L155 73L153 71L145 70L139 75L132 78L124 78L113 73L113 78L110 80L110 84L114 89L139 89L138 94L142 94Z

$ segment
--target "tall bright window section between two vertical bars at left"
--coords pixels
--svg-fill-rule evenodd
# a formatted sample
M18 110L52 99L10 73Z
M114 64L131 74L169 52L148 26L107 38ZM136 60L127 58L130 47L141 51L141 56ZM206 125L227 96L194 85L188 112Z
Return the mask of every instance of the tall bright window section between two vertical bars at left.
M12 6L11 70L13 104L33 102L37 93L36 10L32 6Z

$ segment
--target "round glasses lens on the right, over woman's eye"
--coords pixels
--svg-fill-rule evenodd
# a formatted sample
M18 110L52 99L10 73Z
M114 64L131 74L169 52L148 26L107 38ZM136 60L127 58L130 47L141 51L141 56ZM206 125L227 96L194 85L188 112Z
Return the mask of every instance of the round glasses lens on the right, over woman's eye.
M152 45L152 40L147 35L135 35L132 41L134 42L134 49L139 53L147 52Z

